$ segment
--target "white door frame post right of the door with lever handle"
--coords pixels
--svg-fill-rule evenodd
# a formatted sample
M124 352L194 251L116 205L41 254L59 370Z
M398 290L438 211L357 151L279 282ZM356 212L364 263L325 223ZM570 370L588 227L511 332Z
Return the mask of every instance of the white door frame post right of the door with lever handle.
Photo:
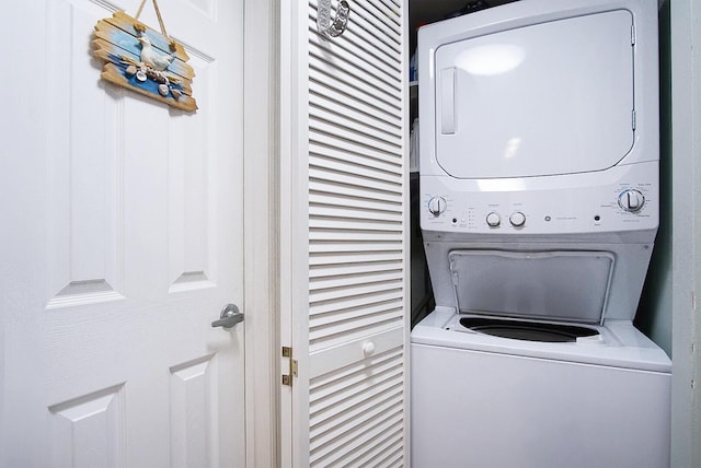
M279 466L279 0L243 3L246 466ZM237 103L232 103L237 105ZM233 436L239 436L234 434Z

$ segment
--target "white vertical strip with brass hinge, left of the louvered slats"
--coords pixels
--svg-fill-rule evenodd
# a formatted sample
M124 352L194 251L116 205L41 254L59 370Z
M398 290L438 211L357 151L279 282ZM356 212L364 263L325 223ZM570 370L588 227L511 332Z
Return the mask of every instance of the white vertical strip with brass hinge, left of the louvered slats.
M308 355L307 314L295 313L309 308L309 143L299 138L309 130L309 3L283 0L279 3L279 37L277 89L279 118L279 340L291 347L294 356ZM294 358L292 356L292 358ZM288 360L286 360L288 361ZM289 362L287 362L289 364ZM281 373L281 370L280 370ZM278 373L279 375L279 373ZM279 388L279 446L281 467L309 465L304 451L309 446L307 421L309 394L306 386L308 367L298 368L291 386Z

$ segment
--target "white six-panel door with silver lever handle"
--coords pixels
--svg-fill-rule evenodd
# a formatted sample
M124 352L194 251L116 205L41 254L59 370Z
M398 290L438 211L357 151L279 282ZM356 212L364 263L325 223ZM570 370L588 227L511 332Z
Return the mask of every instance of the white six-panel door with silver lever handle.
M3 7L0 466L244 465L243 0L159 4L194 114L100 80L138 3Z

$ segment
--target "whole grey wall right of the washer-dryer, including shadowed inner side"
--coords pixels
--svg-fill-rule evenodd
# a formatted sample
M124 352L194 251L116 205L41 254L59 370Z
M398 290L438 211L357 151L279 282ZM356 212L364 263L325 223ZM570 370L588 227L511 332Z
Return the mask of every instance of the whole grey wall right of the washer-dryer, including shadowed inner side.
M660 37L660 220L636 325L673 359L671 466L701 466L701 14L665 0ZM694 55L694 48L697 50Z

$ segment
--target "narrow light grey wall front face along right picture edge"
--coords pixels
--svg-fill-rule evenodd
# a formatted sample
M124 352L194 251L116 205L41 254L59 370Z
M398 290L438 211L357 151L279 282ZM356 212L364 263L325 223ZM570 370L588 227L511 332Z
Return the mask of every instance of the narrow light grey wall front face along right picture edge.
M694 8L696 7L696 8ZM669 9L671 77L671 466L701 466L700 361L696 295L701 280L701 13L698 0L665 1ZM696 51L696 54L694 54Z

